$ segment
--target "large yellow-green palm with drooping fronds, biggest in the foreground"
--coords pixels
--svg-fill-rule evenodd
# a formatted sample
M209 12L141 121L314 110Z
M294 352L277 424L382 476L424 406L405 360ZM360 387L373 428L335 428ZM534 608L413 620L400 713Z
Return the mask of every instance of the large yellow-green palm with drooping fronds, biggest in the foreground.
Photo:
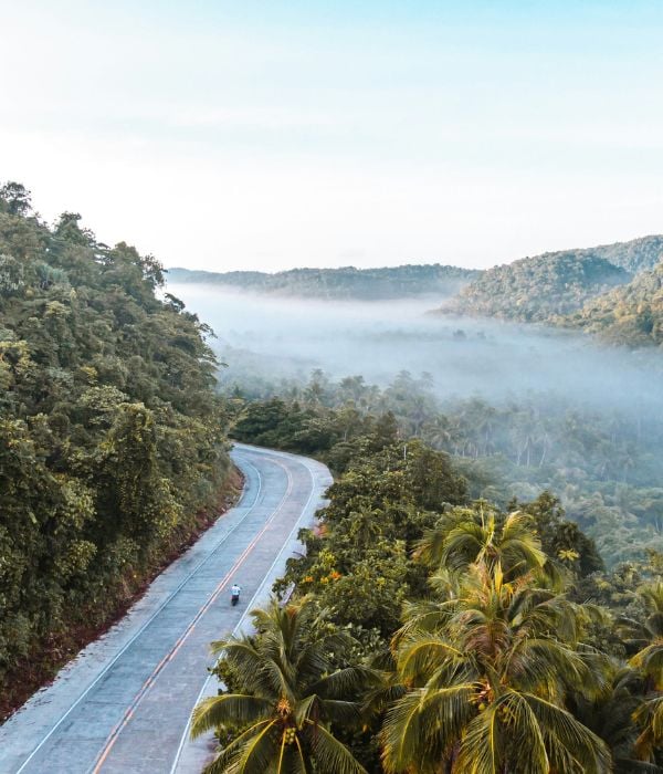
M407 693L382 728L387 772L602 774L608 746L568 711L571 690L598 694L598 657L576 645L579 611L504 579L498 561L471 565L432 631L397 639Z

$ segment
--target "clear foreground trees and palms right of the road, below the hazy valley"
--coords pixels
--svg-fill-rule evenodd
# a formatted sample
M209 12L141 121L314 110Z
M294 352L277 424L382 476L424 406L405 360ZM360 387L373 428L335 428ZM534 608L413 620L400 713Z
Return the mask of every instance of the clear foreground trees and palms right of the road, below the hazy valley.
M219 644L227 690L196 714L223 747L209 771L663 771L663 557L606 574L549 493L502 510L421 441L369 426L348 442L276 586L294 600ZM313 652L315 687L298 678ZM334 762L305 746L314 729Z

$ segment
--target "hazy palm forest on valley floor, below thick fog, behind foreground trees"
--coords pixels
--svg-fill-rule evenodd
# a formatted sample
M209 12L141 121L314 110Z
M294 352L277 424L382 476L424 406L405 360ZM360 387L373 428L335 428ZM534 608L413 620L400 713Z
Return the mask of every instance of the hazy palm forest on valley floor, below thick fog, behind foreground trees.
M398 431L450 453L475 498L505 508L556 492L609 565L663 551L663 423L643 421L638 407L606 414L546 396L442 401L429 377L408 373L386 389L360 376L334 383L322 372L282 388L285 397L249 401L235 390L229 410L238 439L314 453L340 472Z

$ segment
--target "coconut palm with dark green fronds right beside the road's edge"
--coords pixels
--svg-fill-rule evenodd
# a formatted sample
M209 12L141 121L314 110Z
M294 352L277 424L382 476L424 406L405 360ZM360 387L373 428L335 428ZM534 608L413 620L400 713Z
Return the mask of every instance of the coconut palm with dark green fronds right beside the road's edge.
M272 600L251 615L256 635L213 644L232 690L193 711L192 738L221 729L231 739L206 773L364 773L332 728L358 723L358 699L375 674L333 668L354 640L308 599L285 607Z

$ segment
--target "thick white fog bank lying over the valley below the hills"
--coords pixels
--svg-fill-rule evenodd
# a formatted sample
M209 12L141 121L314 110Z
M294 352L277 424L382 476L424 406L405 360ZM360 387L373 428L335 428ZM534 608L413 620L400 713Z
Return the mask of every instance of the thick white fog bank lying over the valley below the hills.
M640 416L663 408L660 353L604 347L588 336L486 320L433 316L440 299L313 302L222 287L169 285L209 324L210 344L228 364L223 384L251 374L306 379L362 375L379 386L400 370L428 373L442 399L493 402L543 394Z

